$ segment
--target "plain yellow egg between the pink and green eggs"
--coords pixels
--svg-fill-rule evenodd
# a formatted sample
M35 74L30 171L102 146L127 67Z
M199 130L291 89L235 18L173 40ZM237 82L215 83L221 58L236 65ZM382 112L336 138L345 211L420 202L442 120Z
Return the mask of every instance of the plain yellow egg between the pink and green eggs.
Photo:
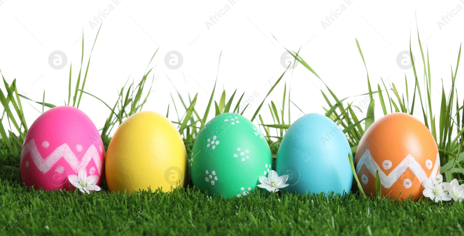
M110 192L183 187L187 152L179 131L156 112L137 112L117 128L106 153ZM172 186L172 187L171 187Z

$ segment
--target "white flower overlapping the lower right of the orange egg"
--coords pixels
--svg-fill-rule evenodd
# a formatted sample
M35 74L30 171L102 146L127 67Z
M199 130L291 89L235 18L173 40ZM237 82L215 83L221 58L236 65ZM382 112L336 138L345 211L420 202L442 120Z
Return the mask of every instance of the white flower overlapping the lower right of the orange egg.
M437 174L431 179L425 179L422 184L425 187L422 192L425 197L435 200L435 202L451 200L451 195L448 194L451 190L451 184L443 182L441 174Z

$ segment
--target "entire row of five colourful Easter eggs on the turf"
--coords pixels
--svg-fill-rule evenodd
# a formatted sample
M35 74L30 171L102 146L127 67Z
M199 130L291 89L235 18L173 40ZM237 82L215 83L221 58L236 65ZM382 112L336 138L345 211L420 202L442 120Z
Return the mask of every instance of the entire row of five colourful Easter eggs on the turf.
M332 120L316 113L297 119L285 133L275 163L279 176L289 176L283 191L350 192L353 172L348 153L352 154L345 134ZM382 195L418 196L415 199L422 196L422 180L439 173L438 149L430 131L406 113L374 122L361 138L355 161L368 195L375 194L377 171ZM111 192L148 187L169 191L184 186L190 168L194 186L225 197L255 191L259 176L267 176L273 165L264 135L236 113L209 121L187 158L183 140L167 118L137 112L118 127L105 158L95 125L70 106L52 108L37 118L20 159L26 186L44 190L74 189L68 175L85 168L86 174L99 177L97 185L104 172Z

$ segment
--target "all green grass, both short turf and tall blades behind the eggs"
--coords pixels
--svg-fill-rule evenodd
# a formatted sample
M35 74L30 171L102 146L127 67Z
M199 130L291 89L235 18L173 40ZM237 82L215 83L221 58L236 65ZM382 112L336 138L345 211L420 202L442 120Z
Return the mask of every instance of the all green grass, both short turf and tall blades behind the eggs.
M434 110L431 102L432 74L428 49L423 50L419 33L417 39L422 63L413 62L413 74L405 77L404 93L400 93L393 83L384 83L383 79L382 84L371 86L366 63L368 58L362 54L361 43L356 39L356 46L366 68L367 89L366 93L361 95L370 95L367 111L362 111L352 102L348 102L353 97L338 98L317 75L316 70L298 54L299 50L292 55L326 85L325 89L321 90L321 95L327 103L323 105L325 115L340 125L353 154L364 132L374 123L374 111L376 108L379 109L379 104L383 114L416 112L417 115L420 112L438 145L441 172L445 180L462 180L464 105L459 105L459 99L463 98L458 98L454 83L458 74L461 48L459 47L457 52L455 68L451 68L451 88L445 92L445 87L442 87L443 96L433 98L441 100L439 109ZM92 50L96 42L97 38L93 42ZM83 37L83 55L84 50ZM81 58L76 81L71 79L70 67L69 93L67 99L64 99L64 104L78 107L85 94L88 99L98 99L108 107L108 118L104 127L99 130L105 149L110 143L110 133L116 130L125 118L141 111L152 92L154 75L150 64L155 56L156 52L141 79L129 78L120 88L113 105L108 105L97 96L84 91L90 56L86 65L83 64L84 58ZM418 78L418 66L423 66L424 78ZM219 69L220 67L218 71ZM285 131L290 127L290 114L304 114L296 105L298 101L291 99L291 88L287 87L286 83L279 103L266 100L281 83L285 71L282 73L256 111L253 111L253 116L249 117L259 124L274 158ZM409 84L413 90L407 89L407 76L413 78L414 86L411 86L411 82ZM243 235L464 235L460 225L464 221L462 203L450 201L442 204L428 199L414 203L410 200L399 202L395 199L365 198L364 193L358 191L359 180L356 178L352 192L344 196L252 193L239 199L224 199L200 193L198 189L192 188L189 180L186 188L174 190L172 193L109 193L105 181L101 192L90 195L75 191L29 190L22 183L19 174L20 149L28 130L21 101L33 100L18 93L15 80L7 82L3 75L2 79L5 89L0 89L0 102L4 108L0 117L0 236L235 235L238 231ZM224 112L243 113L247 109L245 107L241 110L239 106L244 96L243 91L235 90L229 96L225 91L222 91L220 96L215 96L215 92L216 83L205 111L195 109L196 94L171 94L172 102L167 104L166 116L171 119L175 117L172 121L177 125L184 140L187 154L190 154L195 137L209 118ZM373 96L376 93L377 101ZM34 101L37 105L34 108L39 112L44 112L46 107L55 106L45 102L45 94L44 91L41 101ZM146 94L145 97L142 97L142 94ZM335 103L331 100L335 100ZM277 107L276 104L282 106ZM270 112L273 124L264 122L262 115L269 115L267 112Z

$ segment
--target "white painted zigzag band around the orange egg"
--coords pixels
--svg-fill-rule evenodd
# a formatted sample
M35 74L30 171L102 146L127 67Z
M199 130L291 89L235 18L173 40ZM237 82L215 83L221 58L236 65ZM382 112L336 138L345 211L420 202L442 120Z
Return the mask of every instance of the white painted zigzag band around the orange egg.
M435 165L433 166L432 173L430 176L427 177L427 174L425 173L424 168L420 166L420 163L412 157L412 155L407 155L401 163L390 172L390 174L385 174L381 169L380 166L377 164L377 162L374 161L374 158L372 158L371 152L369 149L366 149L366 152L361 156L361 159L358 161L358 164L356 165L356 174L359 174L359 171L361 170L362 165L365 165L367 170L375 176L375 173L377 170L379 171L379 178L380 178L380 184L384 186L385 188L390 188L403 174L403 171L406 170L406 168L411 169L412 173L416 175L416 178L419 180L419 182L422 184L422 181L425 179L429 179L439 173L438 172L438 167L440 166L440 156L437 153L437 160L435 161ZM401 171L401 172L400 172Z

